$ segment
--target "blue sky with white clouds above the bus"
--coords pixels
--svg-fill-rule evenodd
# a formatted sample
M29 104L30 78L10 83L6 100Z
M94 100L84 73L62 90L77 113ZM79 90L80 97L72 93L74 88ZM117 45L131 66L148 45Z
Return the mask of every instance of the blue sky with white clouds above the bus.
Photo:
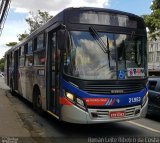
M17 35L28 30L25 18L29 17L29 11L38 9L56 15L67 7L101 7L116 9L134 13L136 15L150 14L152 0L11 0L10 11L0 36L0 58L9 47L5 44L18 42Z

